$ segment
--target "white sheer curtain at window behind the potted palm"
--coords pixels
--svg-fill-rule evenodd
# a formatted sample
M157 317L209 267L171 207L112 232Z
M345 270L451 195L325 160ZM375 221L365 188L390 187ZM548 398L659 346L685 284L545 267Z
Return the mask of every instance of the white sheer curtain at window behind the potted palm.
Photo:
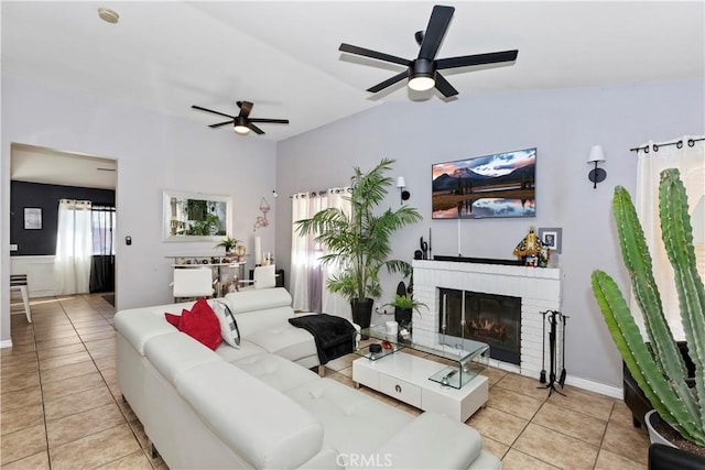
M348 188L330 188L321 193L299 193L292 197L291 293L295 310L350 316L347 300L326 289L326 278L337 273L337 267L321 265L318 259L324 254L323 248L313 241L314 236L300 236L295 225L297 220L311 218L328 207L347 207L349 211L350 203L343 199L347 192Z

